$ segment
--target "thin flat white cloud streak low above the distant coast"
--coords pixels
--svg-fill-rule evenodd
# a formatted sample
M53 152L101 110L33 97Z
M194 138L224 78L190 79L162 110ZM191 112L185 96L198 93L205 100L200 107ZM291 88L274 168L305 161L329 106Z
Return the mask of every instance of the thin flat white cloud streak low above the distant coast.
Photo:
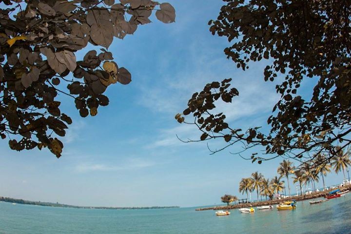
M106 163L81 163L81 164L78 164L74 168L74 170L78 173L129 171L129 170L138 170L138 169L153 167L153 166L156 166L157 164L160 164L160 163L156 163L154 161L148 161L141 158L132 158L119 165L112 165L112 164L106 164Z

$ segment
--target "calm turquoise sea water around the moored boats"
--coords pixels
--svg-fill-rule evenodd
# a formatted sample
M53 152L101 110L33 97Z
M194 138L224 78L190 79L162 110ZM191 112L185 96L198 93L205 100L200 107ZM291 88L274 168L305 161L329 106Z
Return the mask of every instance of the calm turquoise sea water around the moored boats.
M351 193L296 210L215 216L194 208L83 210L0 203L0 234L350 234Z

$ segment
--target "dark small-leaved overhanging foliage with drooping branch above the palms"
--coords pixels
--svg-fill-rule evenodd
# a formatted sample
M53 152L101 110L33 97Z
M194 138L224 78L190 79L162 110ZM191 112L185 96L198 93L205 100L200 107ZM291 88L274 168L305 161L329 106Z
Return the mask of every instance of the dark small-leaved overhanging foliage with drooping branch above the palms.
M263 156L246 156L253 162L284 156L303 164L321 153L324 161L313 164L330 162L351 144L351 2L223 1L217 20L209 25L213 35L230 42L224 49L227 58L244 71L250 62L267 59L262 79L278 83L280 99L267 119L269 130L257 126L243 131L226 122L225 113L216 112L217 102L232 102L239 95L230 87L231 78L195 93L177 121L195 124L200 140L223 139L227 143L219 150L236 143L244 151L264 146ZM311 97L301 94L306 79L314 81ZM185 119L190 114L194 120Z

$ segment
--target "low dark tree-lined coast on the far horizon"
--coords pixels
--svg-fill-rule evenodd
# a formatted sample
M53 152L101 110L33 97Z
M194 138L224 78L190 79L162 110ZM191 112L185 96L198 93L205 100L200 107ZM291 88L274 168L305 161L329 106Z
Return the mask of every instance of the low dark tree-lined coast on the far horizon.
M41 201L27 201L23 199L16 199L11 197L0 196L0 201L17 203L23 205L35 205L35 206L49 206L49 207L61 207L61 208L75 208L75 209L99 209L99 210L150 210L150 209L168 209L168 208L180 208L179 206L148 206L148 207L104 207L104 206L74 206L53 202L41 202Z

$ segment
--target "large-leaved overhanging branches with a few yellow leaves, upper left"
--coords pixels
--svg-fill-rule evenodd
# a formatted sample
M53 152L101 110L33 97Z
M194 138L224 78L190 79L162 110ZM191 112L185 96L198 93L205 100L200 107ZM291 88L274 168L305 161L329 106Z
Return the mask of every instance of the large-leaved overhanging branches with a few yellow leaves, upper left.
M0 136L13 150L48 147L61 156L67 125L58 94L70 96L81 117L109 104L108 86L131 82L107 49L114 38L150 23L152 11L175 21L169 3L152 0L0 0ZM7 7L6 7L7 6ZM76 52L88 44L82 60ZM67 89L64 87L66 86Z

